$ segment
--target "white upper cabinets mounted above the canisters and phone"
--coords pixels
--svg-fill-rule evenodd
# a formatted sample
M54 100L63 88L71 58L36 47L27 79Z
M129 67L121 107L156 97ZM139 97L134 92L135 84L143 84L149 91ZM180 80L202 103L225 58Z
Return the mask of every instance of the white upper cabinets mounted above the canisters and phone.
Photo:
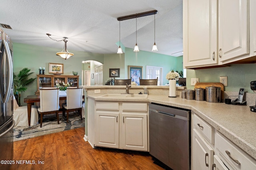
M184 68L252 60L256 55L253 1L183 0Z

